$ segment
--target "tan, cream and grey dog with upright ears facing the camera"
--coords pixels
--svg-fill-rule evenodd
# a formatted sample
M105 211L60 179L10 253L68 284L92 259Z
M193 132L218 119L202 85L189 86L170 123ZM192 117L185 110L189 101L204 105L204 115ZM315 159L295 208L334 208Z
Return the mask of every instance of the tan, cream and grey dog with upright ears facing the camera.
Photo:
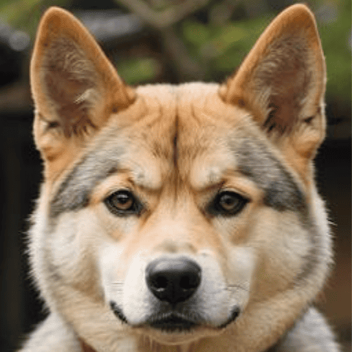
M21 352L338 352L314 300L332 263L314 184L325 58L287 8L223 84L129 87L69 12L30 78L44 181Z

